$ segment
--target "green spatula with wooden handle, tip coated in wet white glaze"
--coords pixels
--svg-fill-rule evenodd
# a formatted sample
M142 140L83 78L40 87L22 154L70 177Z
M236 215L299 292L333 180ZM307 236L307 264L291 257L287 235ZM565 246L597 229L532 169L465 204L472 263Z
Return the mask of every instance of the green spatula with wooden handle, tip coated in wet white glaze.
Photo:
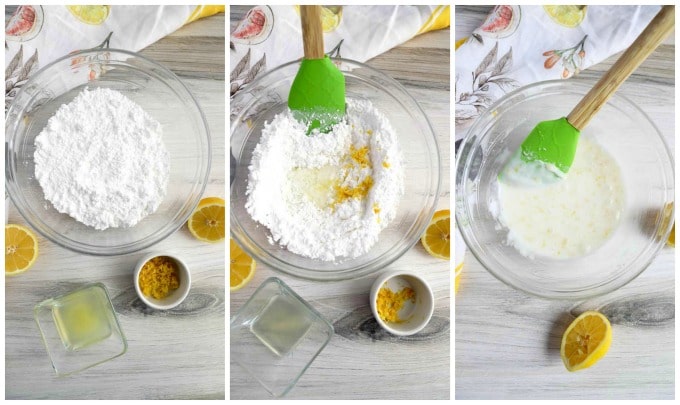
M507 183L542 185L565 177L574 161L581 130L674 27L675 6L663 6L567 117L536 125L500 173L499 179Z

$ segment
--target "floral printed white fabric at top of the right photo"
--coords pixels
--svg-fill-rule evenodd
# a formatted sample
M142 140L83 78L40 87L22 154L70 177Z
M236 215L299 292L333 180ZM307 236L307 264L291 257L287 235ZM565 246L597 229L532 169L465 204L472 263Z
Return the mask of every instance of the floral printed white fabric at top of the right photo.
M626 49L660 6L496 6L456 50L456 139L499 97Z

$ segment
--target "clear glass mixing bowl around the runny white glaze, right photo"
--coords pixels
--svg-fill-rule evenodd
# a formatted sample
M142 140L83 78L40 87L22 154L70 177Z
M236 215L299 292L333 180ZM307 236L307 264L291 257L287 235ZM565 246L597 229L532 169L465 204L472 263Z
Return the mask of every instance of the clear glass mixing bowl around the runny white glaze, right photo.
M673 158L659 130L635 104L615 94L581 138L617 161L626 205L610 238L571 259L522 256L496 219L497 175L540 121L568 115L590 90L573 80L543 82L498 100L470 127L456 165L456 221L470 251L496 278L544 298L583 299L613 291L650 264L673 224Z

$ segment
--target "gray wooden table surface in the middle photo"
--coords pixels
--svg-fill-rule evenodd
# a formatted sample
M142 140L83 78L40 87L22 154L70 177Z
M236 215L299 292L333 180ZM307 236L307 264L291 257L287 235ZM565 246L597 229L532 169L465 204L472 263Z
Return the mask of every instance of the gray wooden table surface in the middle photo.
M231 7L231 28L249 7ZM450 196L450 31L426 33L368 61L392 76L418 100L432 122L442 153L438 209ZM417 57L416 57L417 56ZM432 286L435 310L430 324L410 338L382 331L369 306L376 275L322 283L296 279L258 263L254 279L230 296L233 314L270 276L284 280L335 327L328 346L286 396L288 399L446 399L450 397L449 262L416 244L385 270L412 270ZM239 365L230 364L231 399L266 399L267 392Z

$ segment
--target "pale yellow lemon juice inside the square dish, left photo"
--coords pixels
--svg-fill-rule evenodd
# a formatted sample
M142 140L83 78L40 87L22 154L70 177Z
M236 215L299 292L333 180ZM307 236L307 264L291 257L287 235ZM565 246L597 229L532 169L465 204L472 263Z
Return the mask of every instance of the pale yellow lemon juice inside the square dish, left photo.
M80 350L111 336L107 304L100 289L79 290L57 299L52 316L67 350Z

